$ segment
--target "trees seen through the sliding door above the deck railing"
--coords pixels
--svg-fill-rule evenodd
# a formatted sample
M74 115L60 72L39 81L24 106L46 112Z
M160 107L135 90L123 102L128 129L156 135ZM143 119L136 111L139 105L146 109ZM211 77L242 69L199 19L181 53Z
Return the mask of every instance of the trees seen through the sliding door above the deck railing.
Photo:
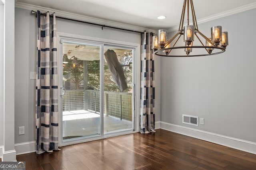
M132 53L127 52L124 55L118 56L119 63L123 66L124 75L126 77L126 82L128 88L123 92L130 92L132 90L132 70L129 68L129 63L132 62ZM100 61L87 61L87 89L90 90L100 90ZM70 88L65 86L68 89L80 89L84 84L84 64L80 61L80 64L73 65L72 60L70 60L65 66L63 66L63 77L66 79L66 84L70 84ZM74 88L72 88L74 84ZM84 89L84 88L83 88ZM110 70L106 61L104 60L104 91L118 92L120 91L116 83L113 81L110 74Z

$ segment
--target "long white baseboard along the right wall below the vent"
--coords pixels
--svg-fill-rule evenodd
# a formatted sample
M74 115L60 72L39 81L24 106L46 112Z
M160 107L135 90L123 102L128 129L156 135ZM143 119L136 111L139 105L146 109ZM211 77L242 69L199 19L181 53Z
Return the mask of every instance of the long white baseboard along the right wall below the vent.
M219 135L216 133L211 133L207 131L201 131L198 129L193 129L189 127L184 127L180 125L174 125L171 123L166 123L162 121L157 121L155 123L156 129L164 129L167 131L179 133L189 137L194 137L197 139L202 139L211 143L216 143L218 145L223 145L225 147L230 147L233 149L242 150L252 154L256 154L256 143L245 141L242 139L237 139L233 137L228 137L224 135Z

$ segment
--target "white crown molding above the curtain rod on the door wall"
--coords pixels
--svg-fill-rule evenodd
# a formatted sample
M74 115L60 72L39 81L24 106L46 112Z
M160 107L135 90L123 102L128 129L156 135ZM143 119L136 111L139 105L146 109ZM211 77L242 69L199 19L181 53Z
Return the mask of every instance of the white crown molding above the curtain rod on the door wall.
M130 29L130 30L140 31L140 32L148 31L148 32L156 33L156 30L153 30L153 29L137 27L134 25L128 25L128 24L118 23L118 22L109 21L109 20L102 20L102 19L98 19L98 18L83 16L83 15L74 14L74 13L70 13L70 12L64 12L64 11L60 11L60 10L54 10L51 8L44 8L42 6L35 6L35 5L25 4L25 3L21 3L21 2L16 2L15 7L26 9L26 10L34 10L34 11L40 10L40 12L50 12L50 13L55 12L56 16L60 16L60 17L64 17L64 18L81 20L81 21L86 21L86 22L91 22L91 23L97 23L97 24L101 24L101 25L108 25L108 26L118 27L118 28L123 28L123 29Z

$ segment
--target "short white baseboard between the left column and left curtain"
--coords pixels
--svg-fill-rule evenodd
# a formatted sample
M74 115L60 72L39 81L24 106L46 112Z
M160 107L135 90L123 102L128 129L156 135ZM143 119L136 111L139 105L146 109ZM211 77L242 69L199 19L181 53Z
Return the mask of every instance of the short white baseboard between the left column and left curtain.
M36 141L17 143L14 145L16 155L36 152Z

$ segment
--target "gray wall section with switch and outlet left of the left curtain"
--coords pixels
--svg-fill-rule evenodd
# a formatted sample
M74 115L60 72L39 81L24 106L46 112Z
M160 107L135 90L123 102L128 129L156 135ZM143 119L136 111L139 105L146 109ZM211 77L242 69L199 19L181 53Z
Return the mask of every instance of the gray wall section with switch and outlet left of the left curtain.
M29 10L15 8L15 143L35 141L36 18ZM25 126L25 135L18 127Z

